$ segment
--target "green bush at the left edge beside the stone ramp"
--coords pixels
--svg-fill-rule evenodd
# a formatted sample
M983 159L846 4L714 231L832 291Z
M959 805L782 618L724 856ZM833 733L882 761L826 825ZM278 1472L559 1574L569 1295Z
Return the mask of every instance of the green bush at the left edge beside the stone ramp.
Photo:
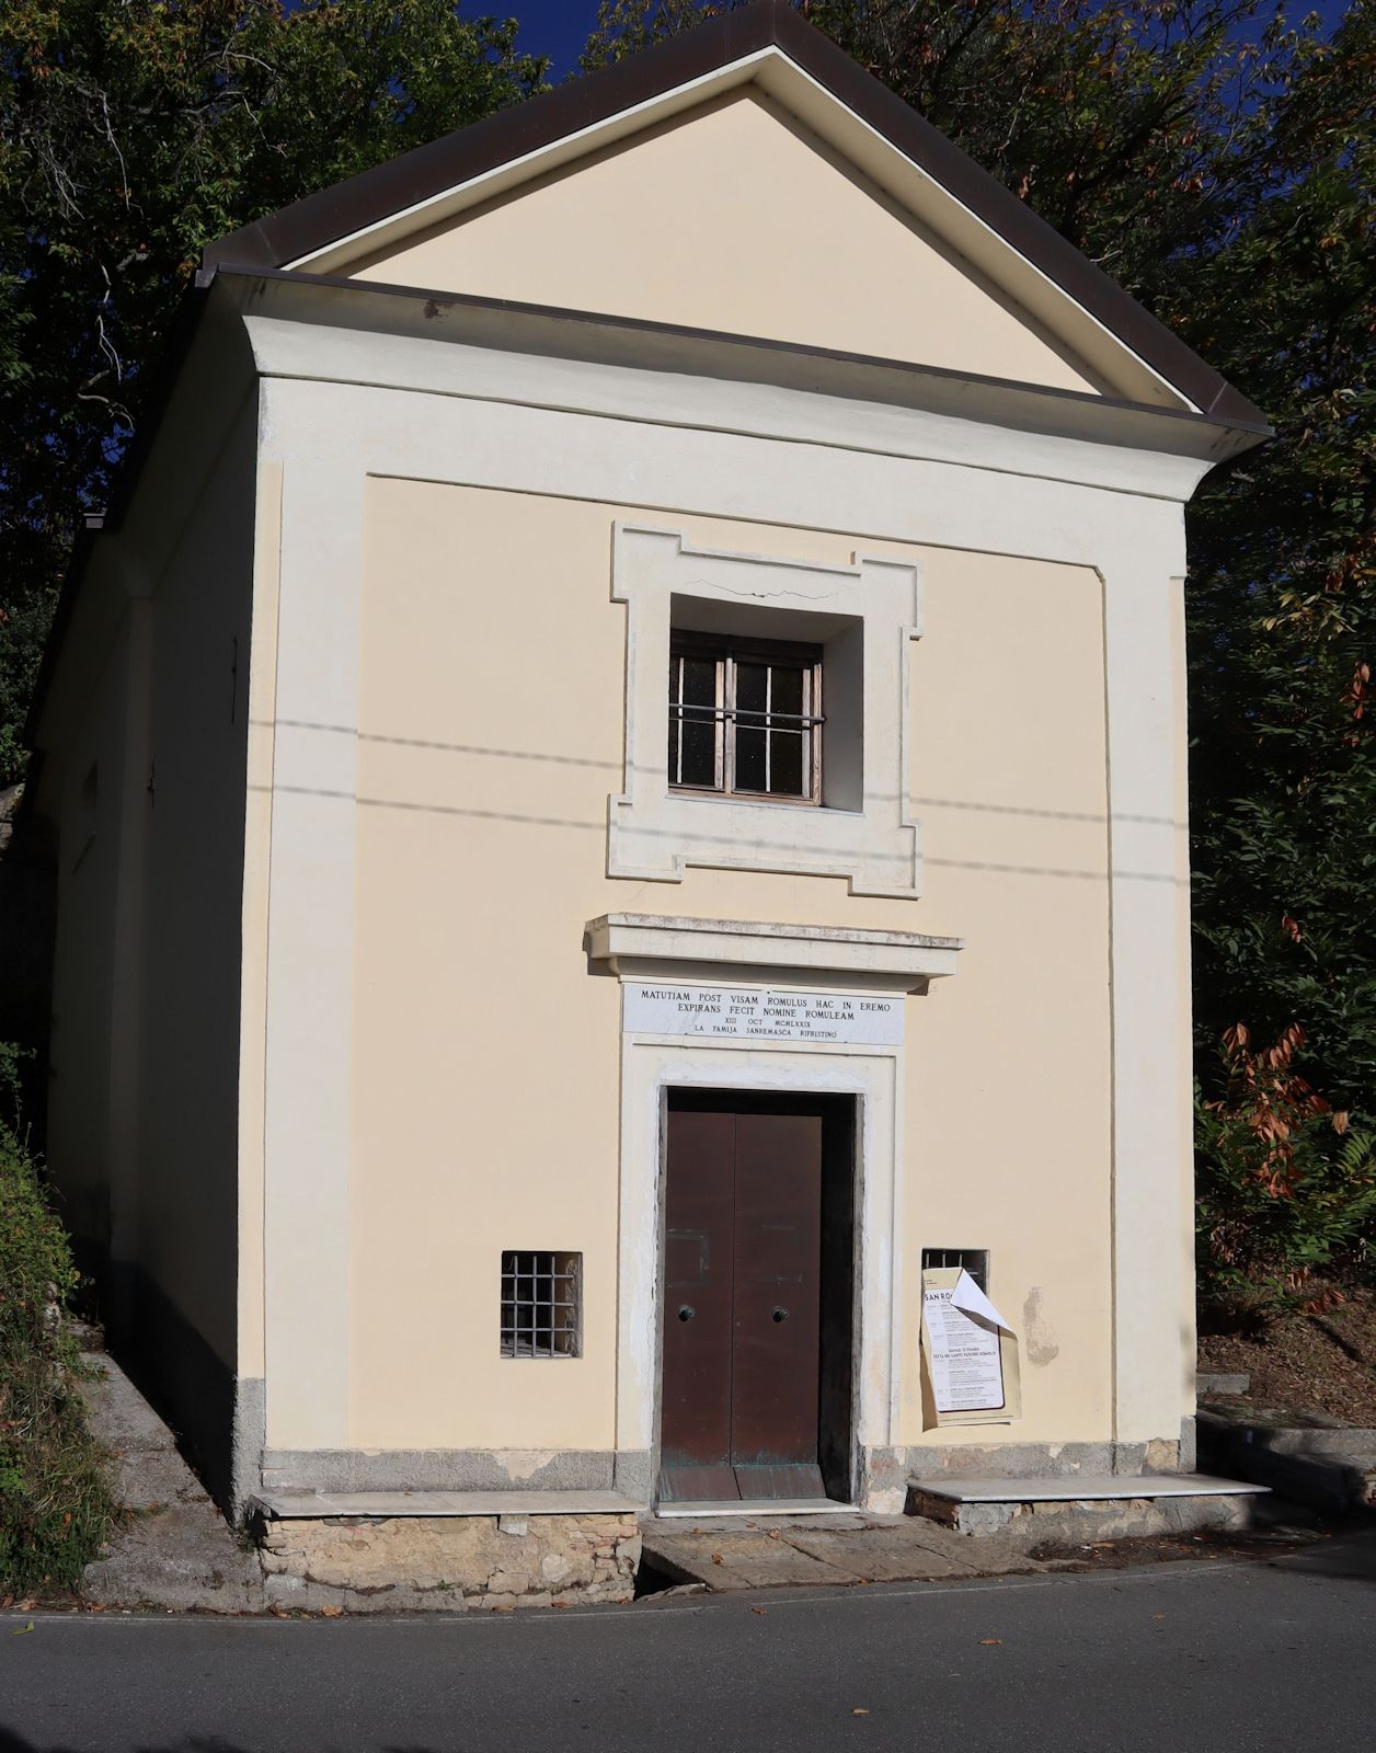
M39 1169L0 1122L0 1595L74 1588L117 1515L63 1331L77 1283Z

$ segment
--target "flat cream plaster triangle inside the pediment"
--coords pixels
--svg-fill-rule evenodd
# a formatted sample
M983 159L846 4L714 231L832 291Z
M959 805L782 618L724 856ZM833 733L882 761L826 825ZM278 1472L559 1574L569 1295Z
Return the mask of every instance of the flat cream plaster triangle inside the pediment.
M335 272L1104 387L1015 298L752 88Z

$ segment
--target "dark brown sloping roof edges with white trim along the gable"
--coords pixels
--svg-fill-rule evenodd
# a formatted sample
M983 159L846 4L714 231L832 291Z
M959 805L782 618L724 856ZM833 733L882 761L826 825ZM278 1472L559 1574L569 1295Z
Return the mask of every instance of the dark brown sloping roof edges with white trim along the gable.
M754 0L741 11L500 110L231 231L205 249L202 282L219 266L280 270L316 265L331 247L338 249L361 233L377 235L400 216L417 209L433 216L449 191L549 154L561 142L577 144L615 117L635 117L671 93L691 93L713 75L736 67L748 70L752 63L768 60L771 51L773 58L784 56L806 81L859 117L1187 405L1220 422L1264 428L1262 412L1241 391L1025 202L808 25L787 0Z

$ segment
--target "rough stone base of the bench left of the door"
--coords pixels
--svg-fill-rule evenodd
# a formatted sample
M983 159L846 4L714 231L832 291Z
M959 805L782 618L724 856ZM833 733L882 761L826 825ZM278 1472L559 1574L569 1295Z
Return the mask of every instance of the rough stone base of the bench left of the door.
M463 1613L629 1600L635 1515L261 1520L266 1606Z

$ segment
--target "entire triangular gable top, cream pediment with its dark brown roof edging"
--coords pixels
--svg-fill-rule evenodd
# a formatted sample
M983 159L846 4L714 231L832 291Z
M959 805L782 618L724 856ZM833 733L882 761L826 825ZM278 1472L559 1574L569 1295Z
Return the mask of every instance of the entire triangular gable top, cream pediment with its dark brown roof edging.
M1260 412L787 0L752 0L230 233L219 268L587 310Z

